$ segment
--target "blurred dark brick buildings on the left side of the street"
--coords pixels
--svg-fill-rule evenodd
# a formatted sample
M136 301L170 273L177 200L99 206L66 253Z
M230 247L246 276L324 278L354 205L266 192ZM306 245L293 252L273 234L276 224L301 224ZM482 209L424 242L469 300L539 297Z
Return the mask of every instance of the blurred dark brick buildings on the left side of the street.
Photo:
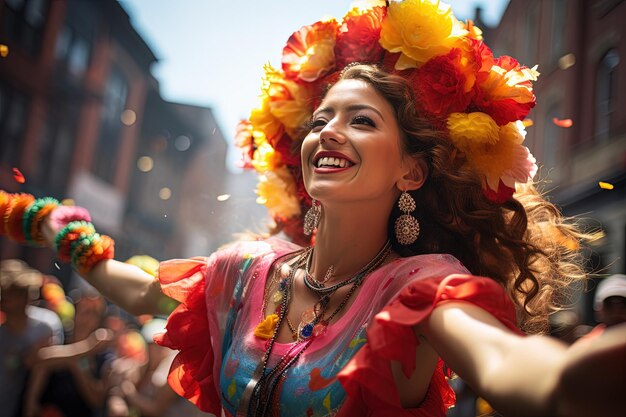
M117 1L0 0L0 44L1 189L86 207L122 260L195 252L186 230L215 236L198 251L226 240L210 215L226 193L221 130L210 109L161 97L157 58ZM195 177L204 194L186 191ZM204 217L188 208L202 195ZM49 249L0 237L0 257L70 276Z

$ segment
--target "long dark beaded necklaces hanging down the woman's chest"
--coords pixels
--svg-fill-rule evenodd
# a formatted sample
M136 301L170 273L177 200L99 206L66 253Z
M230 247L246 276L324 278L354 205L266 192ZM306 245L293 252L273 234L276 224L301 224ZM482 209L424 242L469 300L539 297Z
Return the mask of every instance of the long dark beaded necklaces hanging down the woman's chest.
M272 297L274 302L279 302L280 304L275 310L274 315L277 316L276 323L273 329L273 334L271 338L269 338L267 342L267 347L265 349L265 354L263 355L262 361L257 366L257 369L254 372L254 375L246 389L244 391L242 397L242 405L247 404L247 413L248 417L264 417L268 415L268 411L271 414L274 414L274 411L277 410L269 410L269 407L272 404L279 404L280 398L276 398L280 396L280 388L282 387L285 378L287 377L287 371L298 361L302 353L311 345L313 340L323 334L326 330L326 327L330 324L332 319L346 306L348 300L357 290L357 288L361 285L364 278L374 269L378 268L383 264L387 256L391 252L391 244L389 241L383 246L383 248L378 252L378 254L372 259L364 268L361 268L353 277L341 282L341 285L335 285L333 290L324 291L323 294L319 294L316 291L316 294L320 296L320 301L316 303L313 308L313 317L310 321L304 322L302 321L297 329L297 340L293 344L293 346L287 351L285 355L283 355L277 362L277 364L270 370L268 370L267 365L268 361L278 337L280 333L280 326L283 320L286 318L287 325L289 326L292 334L294 333L294 327L289 322L289 318L287 318L287 312L289 310L289 302L291 301L291 295L293 291L293 283L295 280L295 275L298 269L303 268L309 260L310 253L313 251L312 248L304 249L297 251L292 254L285 255L284 257L292 256L292 260L294 260L293 265L291 266L291 270L289 271L289 275L286 278L280 280L278 285L278 291L274 293ZM284 258L281 257L280 259ZM278 259L277 259L278 261ZM283 264L284 265L284 264ZM279 271L282 269L282 266L275 267L274 274L272 280L270 281L270 285L268 289L271 289L274 282L278 277ZM306 281L306 273L304 274ZM328 316L324 317L328 305L330 302L330 297L332 294L340 287L345 285L352 284L352 287L348 290L343 300L337 308ZM307 285L308 286L308 285ZM310 288L310 287L309 287ZM330 288L330 287L329 287ZM314 290L315 291L315 290ZM281 297L279 298L277 294L280 293ZM265 308L267 306L267 301L269 297L263 297L263 312L265 312ZM316 313L317 306L319 305L319 313ZM303 313L306 314L307 312ZM271 315L270 315L271 316ZM269 316L268 316L269 317ZM267 318L266 318L267 320ZM256 334L256 331L255 331ZM279 407L279 405L278 405ZM279 410L278 410L279 411ZM238 413L238 415L240 415Z

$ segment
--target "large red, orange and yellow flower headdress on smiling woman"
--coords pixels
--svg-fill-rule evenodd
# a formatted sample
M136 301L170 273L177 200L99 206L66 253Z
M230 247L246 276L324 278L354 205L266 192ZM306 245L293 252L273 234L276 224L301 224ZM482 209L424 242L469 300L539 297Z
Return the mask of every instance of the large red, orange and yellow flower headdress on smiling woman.
M522 120L535 105L539 73L509 56L495 58L471 21L458 21L438 0L387 1L353 8L341 20L304 26L283 48L282 67L265 67L261 103L238 127L243 166L260 174L257 202L298 242L311 205L294 143L323 88L351 62L377 64L404 76L416 106L483 178L486 198L510 199L515 183L536 171L521 145Z

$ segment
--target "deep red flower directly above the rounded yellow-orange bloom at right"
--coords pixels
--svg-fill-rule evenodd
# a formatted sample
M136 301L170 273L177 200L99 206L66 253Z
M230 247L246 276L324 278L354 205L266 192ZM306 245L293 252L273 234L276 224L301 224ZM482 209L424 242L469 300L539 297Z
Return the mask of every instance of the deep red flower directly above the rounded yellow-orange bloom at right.
M453 48L448 54L428 60L413 82L418 105L430 116L444 118L463 112L471 101L467 68L462 66L462 53Z

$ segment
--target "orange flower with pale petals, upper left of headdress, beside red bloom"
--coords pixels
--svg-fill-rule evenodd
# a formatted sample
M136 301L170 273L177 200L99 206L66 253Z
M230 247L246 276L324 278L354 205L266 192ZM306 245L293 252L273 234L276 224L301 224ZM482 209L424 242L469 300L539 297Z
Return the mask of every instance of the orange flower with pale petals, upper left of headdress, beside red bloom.
M283 71L290 79L312 82L335 66L337 21L332 19L303 26L283 48Z

